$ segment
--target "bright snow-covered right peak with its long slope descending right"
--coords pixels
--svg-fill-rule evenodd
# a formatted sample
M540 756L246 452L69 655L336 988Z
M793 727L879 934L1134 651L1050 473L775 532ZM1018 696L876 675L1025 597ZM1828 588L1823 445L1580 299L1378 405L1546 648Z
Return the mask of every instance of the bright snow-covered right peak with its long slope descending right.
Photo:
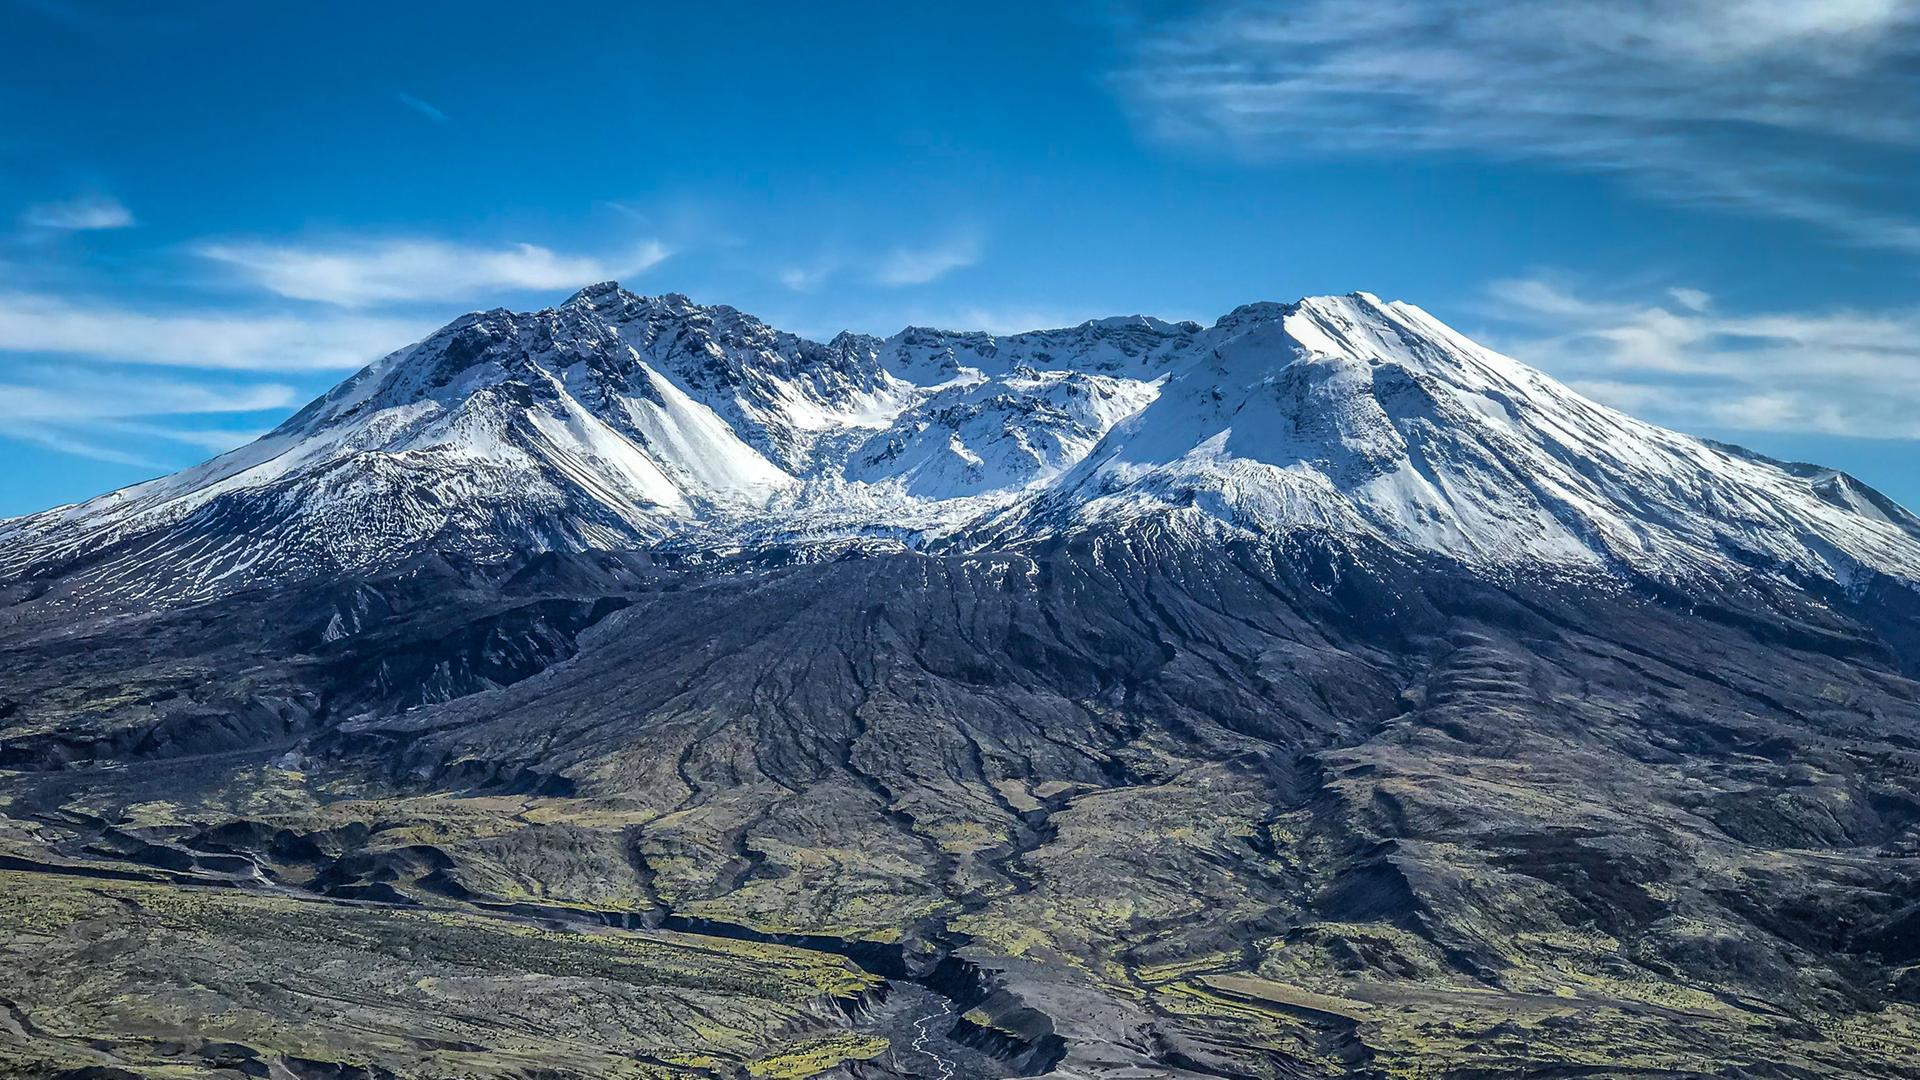
M1636 421L1411 304L1256 304L1204 342L1023 528L1196 505L1486 565L1920 580L1912 515L1859 480Z

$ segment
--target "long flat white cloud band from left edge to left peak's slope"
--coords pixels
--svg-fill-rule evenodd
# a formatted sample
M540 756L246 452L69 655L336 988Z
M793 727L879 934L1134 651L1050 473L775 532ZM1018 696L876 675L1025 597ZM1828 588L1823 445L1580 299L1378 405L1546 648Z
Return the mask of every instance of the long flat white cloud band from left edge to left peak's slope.
M346 371L432 331L430 321L223 311L138 311L36 292L0 292L0 352L246 371Z

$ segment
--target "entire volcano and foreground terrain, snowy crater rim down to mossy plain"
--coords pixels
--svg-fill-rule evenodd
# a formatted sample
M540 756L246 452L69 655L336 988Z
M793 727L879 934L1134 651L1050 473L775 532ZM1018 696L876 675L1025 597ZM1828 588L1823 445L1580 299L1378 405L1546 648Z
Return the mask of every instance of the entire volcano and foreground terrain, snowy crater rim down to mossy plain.
M0 530L21 1074L1912 1068L1912 517L1405 306L597 286Z

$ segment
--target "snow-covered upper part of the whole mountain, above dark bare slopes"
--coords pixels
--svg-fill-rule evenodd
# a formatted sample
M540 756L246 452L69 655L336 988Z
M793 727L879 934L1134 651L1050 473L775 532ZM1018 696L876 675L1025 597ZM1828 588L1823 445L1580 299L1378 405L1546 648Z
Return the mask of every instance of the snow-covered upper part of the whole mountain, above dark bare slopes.
M1369 294L820 344L612 282L0 523L0 577L198 598L422 550L1006 544L1162 511L1503 571L1920 580L1920 521L1859 480L1640 423Z

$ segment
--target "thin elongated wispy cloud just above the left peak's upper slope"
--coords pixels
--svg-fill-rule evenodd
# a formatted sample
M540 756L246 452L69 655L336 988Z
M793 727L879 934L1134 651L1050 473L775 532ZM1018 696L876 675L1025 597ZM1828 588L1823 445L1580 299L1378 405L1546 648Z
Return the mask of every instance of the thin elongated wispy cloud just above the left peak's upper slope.
M637 275L670 252L655 240L616 256L563 256L536 244L480 248L442 240L372 240L319 248L204 244L200 254L280 296L365 307L409 300L467 300L522 288L578 288Z

